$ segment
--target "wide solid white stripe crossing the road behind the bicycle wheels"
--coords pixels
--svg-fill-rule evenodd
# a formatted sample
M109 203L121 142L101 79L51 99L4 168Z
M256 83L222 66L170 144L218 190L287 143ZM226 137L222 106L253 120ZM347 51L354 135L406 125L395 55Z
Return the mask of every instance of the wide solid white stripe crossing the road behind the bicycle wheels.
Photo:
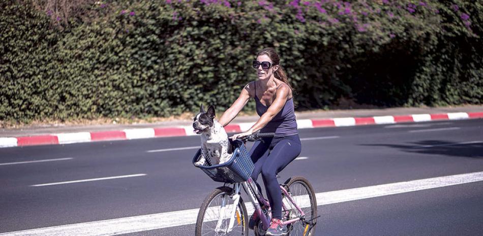
M317 205L322 206L336 203L345 203L346 201L394 195L398 193L407 193L433 188L441 188L479 181L483 181L483 172L443 176L330 192L320 192L316 193L315 195L317 199ZM302 203L300 205L301 207L307 206L306 203ZM253 207L251 203L247 203L246 206L248 215L251 215L253 213ZM0 236L107 236L113 234L133 233L146 230L194 224L196 223L198 211L199 209L195 208L183 211L164 212L158 214L132 216L110 220L59 225L46 228L27 229L21 231L0 233Z

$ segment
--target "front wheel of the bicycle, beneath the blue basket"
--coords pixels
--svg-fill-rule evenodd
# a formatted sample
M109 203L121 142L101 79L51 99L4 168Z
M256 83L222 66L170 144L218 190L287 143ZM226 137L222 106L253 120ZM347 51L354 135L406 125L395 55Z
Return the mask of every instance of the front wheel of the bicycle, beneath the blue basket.
M234 216L231 216L235 208ZM248 236L248 213L241 196L234 206L233 189L219 187L203 201L196 220L195 236ZM230 226L230 221L232 225Z

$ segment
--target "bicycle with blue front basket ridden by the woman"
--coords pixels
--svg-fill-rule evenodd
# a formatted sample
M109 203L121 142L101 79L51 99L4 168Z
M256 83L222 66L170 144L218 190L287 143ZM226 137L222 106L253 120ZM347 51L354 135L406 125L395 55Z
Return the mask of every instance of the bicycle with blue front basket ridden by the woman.
M250 177L254 164L245 147L247 141L255 142L274 137L274 133L255 133L231 141L232 157L225 163L196 166L216 182L224 183L213 190L201 204L196 220L195 235L242 235L248 236L248 212L240 190L243 187L250 197L258 221L254 225L255 235L265 235L270 226L271 211L268 200L259 192ZM193 164L198 161L200 151L195 154ZM277 176L277 178L280 178ZM317 202L310 182L301 176L287 179L280 184L282 194L282 221L285 235L313 236L317 223Z

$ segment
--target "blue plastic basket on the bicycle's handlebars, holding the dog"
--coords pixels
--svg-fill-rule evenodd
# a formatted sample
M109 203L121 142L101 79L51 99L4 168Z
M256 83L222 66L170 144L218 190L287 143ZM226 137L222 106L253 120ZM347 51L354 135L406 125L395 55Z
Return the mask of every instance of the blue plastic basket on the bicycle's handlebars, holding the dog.
M248 154L245 145L240 140L231 141L233 154L231 158L222 164L210 165L209 160L205 165L196 166L200 168L206 175L216 182L222 183L239 183L247 181L253 172L253 162ZM201 149L196 152L193 157L193 165L200 159Z

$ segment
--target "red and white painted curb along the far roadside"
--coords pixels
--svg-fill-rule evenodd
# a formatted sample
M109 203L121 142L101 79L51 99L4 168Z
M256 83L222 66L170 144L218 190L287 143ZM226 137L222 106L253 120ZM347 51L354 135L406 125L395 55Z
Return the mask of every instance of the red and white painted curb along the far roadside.
M339 127L367 124L394 124L403 122L422 122L432 120L461 120L483 118L483 112L457 112L442 114L417 114L403 116L373 116L373 117L346 117L331 119L301 119L297 120L298 128ZM227 132L242 132L248 130L255 122L230 124L225 126ZM132 140L155 137L174 137L197 135L193 127L179 126L169 128L137 128L113 131L56 133L41 136L28 136L16 138L0 138L0 147L17 147L48 144L70 144L109 140Z

